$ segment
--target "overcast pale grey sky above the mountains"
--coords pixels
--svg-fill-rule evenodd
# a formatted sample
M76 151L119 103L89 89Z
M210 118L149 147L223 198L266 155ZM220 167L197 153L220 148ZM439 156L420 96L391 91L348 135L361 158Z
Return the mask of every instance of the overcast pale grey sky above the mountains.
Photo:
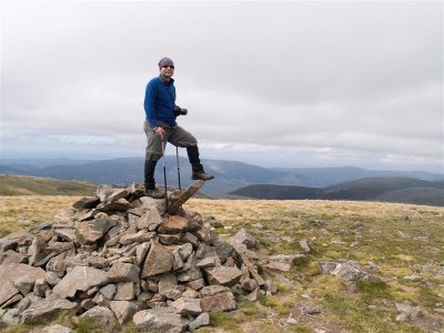
M442 1L2 1L1 157L143 157L164 56L202 158L443 171Z

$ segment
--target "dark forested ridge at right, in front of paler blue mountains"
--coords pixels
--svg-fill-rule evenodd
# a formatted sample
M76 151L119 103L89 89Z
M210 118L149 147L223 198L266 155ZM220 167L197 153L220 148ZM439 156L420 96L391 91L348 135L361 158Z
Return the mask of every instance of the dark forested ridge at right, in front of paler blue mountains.
M231 192L255 199L385 201L444 206L444 181L411 178L365 178L325 188L249 185Z

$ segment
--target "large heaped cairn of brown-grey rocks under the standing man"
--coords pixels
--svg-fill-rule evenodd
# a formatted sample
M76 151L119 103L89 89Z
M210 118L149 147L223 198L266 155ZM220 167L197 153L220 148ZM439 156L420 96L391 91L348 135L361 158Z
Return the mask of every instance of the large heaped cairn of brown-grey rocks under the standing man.
M245 253L195 212L162 215L143 185L102 185L53 221L0 239L0 316L8 325L65 311L118 330L193 331L209 313L269 284ZM245 242L244 242L245 241Z

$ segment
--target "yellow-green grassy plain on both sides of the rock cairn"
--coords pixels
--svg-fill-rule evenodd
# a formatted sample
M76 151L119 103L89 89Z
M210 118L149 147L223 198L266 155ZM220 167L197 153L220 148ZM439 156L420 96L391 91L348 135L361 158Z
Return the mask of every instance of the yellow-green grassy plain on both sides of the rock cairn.
M14 208L2 211L0 234L49 220L59 208L68 208L72 196L1 198ZM46 209L48 208L48 210ZM294 284L279 282L280 292L259 302L242 301L239 311L211 315L211 327L199 332L440 332L444 307L444 209L410 204L346 201L260 201L193 199L185 210L222 223L215 229L226 238L245 228L261 241L269 254L301 253L299 241L306 239L313 252L283 273ZM51 212L50 212L51 211ZM8 220L4 220L4 218ZM28 224L11 224L27 218ZM9 222L8 222L9 221ZM325 228L317 228L320 221ZM360 223L356 223L360 222ZM262 228L254 226L261 223ZM9 226L8 226L9 225ZM282 238L281 241L273 236ZM331 275L319 274L319 262L353 260L366 268L373 262L384 283L366 283L352 289ZM264 269L264 276L276 280ZM421 306L423 316L397 322L395 302ZM440 305L441 303L441 305ZM317 309L319 314L306 310ZM295 324L285 324L292 316ZM276 331L278 330L278 331Z

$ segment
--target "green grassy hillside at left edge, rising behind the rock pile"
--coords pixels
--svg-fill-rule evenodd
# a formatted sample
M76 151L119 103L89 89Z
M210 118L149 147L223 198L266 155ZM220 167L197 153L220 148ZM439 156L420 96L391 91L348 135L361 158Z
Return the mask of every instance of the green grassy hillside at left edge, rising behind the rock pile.
M95 189L88 182L0 174L0 195L92 195Z

